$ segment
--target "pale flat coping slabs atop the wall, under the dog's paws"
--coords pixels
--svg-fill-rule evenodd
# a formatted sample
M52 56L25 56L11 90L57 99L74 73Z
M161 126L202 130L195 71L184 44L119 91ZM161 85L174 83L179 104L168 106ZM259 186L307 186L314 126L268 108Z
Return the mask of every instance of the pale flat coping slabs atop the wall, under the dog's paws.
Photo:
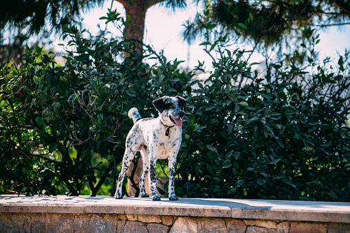
M1 195L0 212L157 214L350 223L350 203L250 199Z

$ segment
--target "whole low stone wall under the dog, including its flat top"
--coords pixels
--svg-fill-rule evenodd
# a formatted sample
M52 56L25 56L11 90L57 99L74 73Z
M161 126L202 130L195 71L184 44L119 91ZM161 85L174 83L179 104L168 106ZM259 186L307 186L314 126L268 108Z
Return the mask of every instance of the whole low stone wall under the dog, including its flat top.
M0 232L350 232L350 203L0 196Z

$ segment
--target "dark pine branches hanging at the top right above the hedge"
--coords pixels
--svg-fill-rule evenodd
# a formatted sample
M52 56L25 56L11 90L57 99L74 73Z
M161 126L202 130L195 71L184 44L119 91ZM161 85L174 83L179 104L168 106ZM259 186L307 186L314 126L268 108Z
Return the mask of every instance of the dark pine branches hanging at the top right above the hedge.
M230 34L235 43L253 47L285 48L300 44L303 27L349 25L350 4L344 1L201 1L203 12L186 21L183 36L189 43L196 38L215 41ZM215 30L212 30L215 27ZM209 30L208 30L209 29Z

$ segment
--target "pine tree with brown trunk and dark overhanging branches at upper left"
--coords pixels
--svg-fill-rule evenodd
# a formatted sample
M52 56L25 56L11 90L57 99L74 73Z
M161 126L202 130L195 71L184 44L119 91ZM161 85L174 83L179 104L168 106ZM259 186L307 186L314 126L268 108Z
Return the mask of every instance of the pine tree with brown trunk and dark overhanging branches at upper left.
M18 39L24 38L26 43L31 43L34 39L46 45L52 43L52 36L61 36L64 25L81 26L83 14L96 7L101 7L105 0L14 0L3 3L3 10L0 14L0 63L6 63L8 58L16 58L21 55L21 44L17 46ZM111 8L114 0L111 1ZM152 5L160 3L166 8L185 8L185 0L154 0L154 1L135 1L120 0L127 14L129 23L123 24L124 36L126 38L141 41L144 34L144 19L146 10ZM116 9L109 9L109 16L118 15ZM107 23L109 22L108 17ZM122 19L123 20L123 19ZM106 31L100 31L105 33ZM8 34L7 43L3 44ZM31 38L31 41L28 39ZM44 42L43 42L44 41ZM141 43L142 44L142 43ZM142 47L142 46L141 46Z

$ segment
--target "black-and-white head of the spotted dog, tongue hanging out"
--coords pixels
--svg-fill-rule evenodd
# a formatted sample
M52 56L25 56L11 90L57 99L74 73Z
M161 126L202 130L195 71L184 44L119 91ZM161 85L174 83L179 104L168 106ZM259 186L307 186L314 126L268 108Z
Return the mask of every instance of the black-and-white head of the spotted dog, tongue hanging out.
M186 112L186 100L180 96L164 96L153 100L153 106L160 113L163 124L182 127L182 118Z

